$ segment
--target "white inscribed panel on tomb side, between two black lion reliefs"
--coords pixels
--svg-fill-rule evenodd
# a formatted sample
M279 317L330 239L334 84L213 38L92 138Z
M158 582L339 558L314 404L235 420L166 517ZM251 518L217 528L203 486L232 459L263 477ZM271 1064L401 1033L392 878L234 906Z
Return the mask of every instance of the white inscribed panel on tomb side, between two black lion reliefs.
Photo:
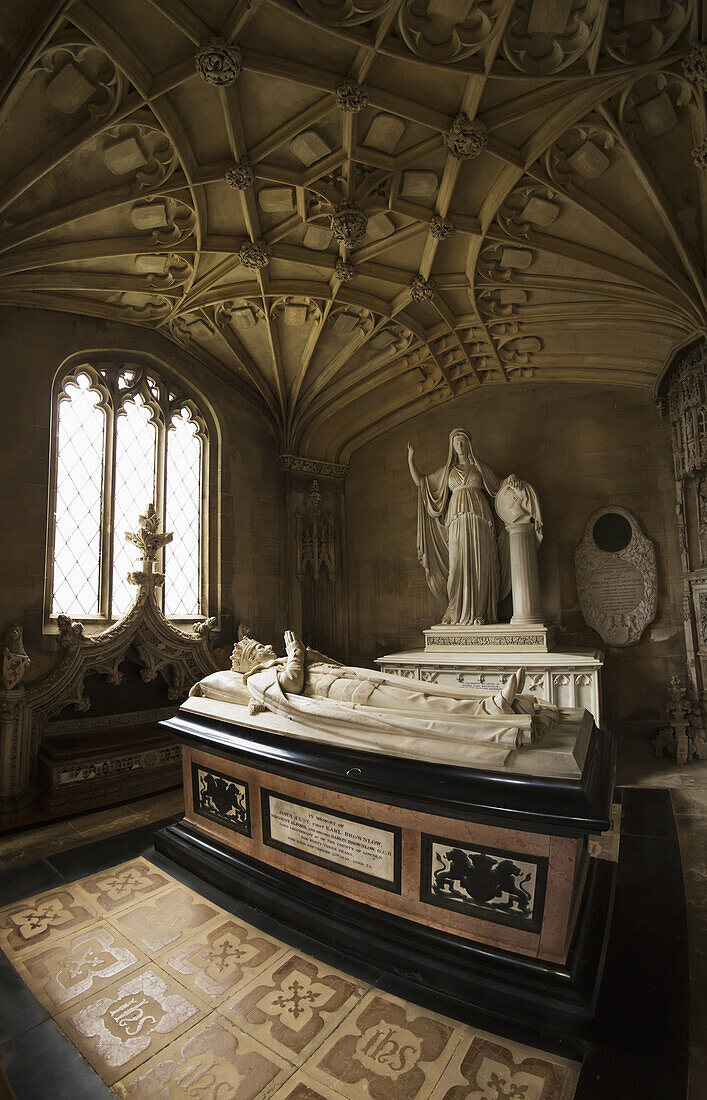
M400 892L400 836L394 825L332 813L310 802L261 791L263 839L318 867Z

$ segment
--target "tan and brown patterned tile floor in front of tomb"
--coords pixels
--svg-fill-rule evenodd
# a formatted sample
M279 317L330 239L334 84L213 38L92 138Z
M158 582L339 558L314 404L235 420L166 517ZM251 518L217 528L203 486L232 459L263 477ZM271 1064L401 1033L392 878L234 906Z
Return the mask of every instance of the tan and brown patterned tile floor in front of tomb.
M48 1018L125 1100L575 1092L576 1063L386 993L142 857L7 905L0 945Z

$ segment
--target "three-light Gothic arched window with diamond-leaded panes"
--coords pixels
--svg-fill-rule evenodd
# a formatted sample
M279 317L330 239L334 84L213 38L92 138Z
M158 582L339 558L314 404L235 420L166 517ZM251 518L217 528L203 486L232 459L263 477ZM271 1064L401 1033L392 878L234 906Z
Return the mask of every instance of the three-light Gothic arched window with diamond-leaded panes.
M154 503L164 549L164 613L205 613L207 428L195 402L142 364L81 363L59 380L47 556L47 609L113 620L135 590L134 531Z

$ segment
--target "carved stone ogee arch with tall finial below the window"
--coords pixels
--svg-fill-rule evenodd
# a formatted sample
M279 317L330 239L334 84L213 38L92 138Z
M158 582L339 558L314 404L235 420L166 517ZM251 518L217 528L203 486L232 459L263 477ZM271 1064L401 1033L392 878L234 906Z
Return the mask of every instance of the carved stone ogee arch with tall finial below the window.
M89 674L98 673L119 684L120 667L130 649L142 664L142 679L148 682L162 675L169 698L180 700L194 683L218 671L210 631L203 627L200 632L179 630L162 612L157 592L163 576L154 571L154 564L159 548L172 536L159 531L154 508L141 517L139 530L129 535L142 557L141 568L131 573L136 593L130 610L107 630L91 635L84 632L82 623L60 615L56 667L23 691L0 692L0 814L11 812L36 782L47 721L66 706L90 708L84 690Z

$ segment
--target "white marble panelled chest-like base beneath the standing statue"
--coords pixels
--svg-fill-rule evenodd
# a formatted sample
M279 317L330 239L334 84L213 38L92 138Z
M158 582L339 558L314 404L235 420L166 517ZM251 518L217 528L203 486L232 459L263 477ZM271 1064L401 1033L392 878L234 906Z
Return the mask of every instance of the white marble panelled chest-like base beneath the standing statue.
M504 626L505 624L501 624ZM459 630L459 627L433 627L426 634L439 629ZM466 628L463 628L466 629ZM475 627L490 630L493 627ZM523 692L537 698L545 698L556 706L583 706L601 725L601 667L604 653L600 649L540 649L523 650L519 646L494 650L472 646L440 646L426 649L408 649L400 653L378 657L376 664L382 672L391 675L422 680L442 684L445 688L470 688L473 691L499 691L508 676L517 669L526 670Z

